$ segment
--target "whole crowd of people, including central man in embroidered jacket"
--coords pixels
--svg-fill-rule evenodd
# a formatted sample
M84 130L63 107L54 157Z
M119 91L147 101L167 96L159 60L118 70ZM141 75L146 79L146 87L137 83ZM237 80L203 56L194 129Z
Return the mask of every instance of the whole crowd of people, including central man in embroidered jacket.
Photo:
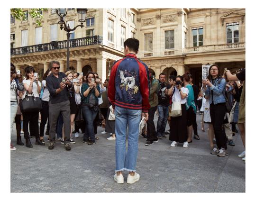
M110 79L104 83L93 72L86 75L59 72L58 61L50 62L42 82L38 80L33 66L25 68L23 79L20 71L16 71L11 64L10 132L15 120L17 145L24 145L21 128L25 146L29 148L33 147L32 137L35 137L36 145L45 146L46 134L49 136L48 149L54 149L57 134L57 140L64 144L66 150L71 150L71 144L75 143L73 136L79 137L80 130L83 133L82 142L93 145L99 139L96 137L97 127L103 121L103 133L110 134L107 139L116 140L114 180L117 183L123 183L123 170L129 171L128 183L139 180L136 161L138 128L142 118L146 122L145 132L142 133L146 137L146 146L152 146L169 135L171 147L179 143L183 143L184 148L189 147L192 138L200 140L196 122L197 112L200 112L201 131L206 130L205 124L209 125L210 154L220 157L228 155L227 143L235 146L232 139L237 132L236 124L245 147L245 69L239 69L236 74L225 69L220 74L219 66L213 64L200 87L193 84L189 72L178 76L160 73L157 79L155 72L137 59L138 46L137 39L128 38L124 42L125 57L113 64ZM24 110L25 102L31 100L27 98L29 96L35 100L39 98L39 109ZM156 111L158 120L155 127ZM167 122L169 132L165 132ZM16 150L12 144L10 148ZM245 160L245 150L238 156Z

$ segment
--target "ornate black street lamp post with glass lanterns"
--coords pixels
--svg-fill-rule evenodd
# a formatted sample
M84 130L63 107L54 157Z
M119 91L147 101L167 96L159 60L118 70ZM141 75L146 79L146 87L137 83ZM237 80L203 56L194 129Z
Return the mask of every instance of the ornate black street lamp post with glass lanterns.
M69 24L66 25L65 23L65 16L67 14L66 9L56 9L56 13L58 15L58 18L60 21L58 21L58 24L60 24L61 30L64 28L64 31L67 32L67 70L69 70L69 38L70 38L70 32L75 30L77 27L84 27L83 22L85 22L86 13L88 9L76 9L78 13L79 22L81 25L77 25L76 27L70 28Z

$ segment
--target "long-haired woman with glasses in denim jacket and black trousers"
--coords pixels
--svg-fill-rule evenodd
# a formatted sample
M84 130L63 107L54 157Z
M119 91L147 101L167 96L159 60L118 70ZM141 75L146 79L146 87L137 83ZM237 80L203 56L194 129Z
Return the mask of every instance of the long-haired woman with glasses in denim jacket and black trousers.
M223 157L228 155L227 137L222 129L226 113L226 99L224 97L226 80L220 76L217 64L210 66L209 75L202 83L206 98L210 98L210 119L217 144L217 148L213 148L211 154Z

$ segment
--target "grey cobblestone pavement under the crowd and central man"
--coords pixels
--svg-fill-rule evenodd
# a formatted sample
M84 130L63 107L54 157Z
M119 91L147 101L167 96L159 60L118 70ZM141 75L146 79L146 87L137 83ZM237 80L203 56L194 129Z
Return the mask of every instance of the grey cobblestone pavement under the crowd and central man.
M170 147L169 135L145 146L146 138L140 136L140 180L134 184L126 183L127 172L125 183L114 182L115 141L107 140L109 135L102 135L101 127L95 145L82 143L80 134L72 150L65 151L60 141L49 150L47 136L46 146L35 145L35 139L31 140L33 148L16 145L14 125L11 140L17 150L11 151L11 192L245 192L245 162L237 156L244 150L240 135L234 137L236 146L228 145L228 156L210 155L200 119L197 115L201 140L193 139L188 148Z

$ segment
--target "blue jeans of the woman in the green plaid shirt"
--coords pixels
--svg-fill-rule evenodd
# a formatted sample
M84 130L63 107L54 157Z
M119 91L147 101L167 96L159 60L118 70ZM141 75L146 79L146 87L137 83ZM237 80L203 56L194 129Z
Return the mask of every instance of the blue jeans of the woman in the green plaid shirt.
M94 110L94 108L89 108L88 106L82 105L82 115L85 120L86 130L84 131L83 139L90 140L91 142L95 142L95 135L94 135L94 128L93 128L93 121L98 114L98 110Z

